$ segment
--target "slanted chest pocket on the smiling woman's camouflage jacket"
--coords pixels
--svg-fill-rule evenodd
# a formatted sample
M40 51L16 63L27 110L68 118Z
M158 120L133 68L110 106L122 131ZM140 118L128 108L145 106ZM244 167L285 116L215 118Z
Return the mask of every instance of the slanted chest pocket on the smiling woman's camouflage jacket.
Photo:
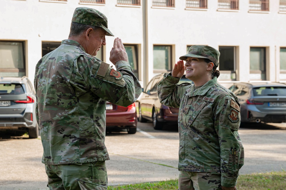
M193 111L191 117L188 120L188 124L200 131L204 131L211 119L212 103L207 104L204 101L200 105L198 105L198 107Z

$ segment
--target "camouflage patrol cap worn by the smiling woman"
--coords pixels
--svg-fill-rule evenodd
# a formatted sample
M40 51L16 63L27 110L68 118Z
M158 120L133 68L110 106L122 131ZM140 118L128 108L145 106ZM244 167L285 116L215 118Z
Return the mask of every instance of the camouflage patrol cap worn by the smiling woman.
M188 54L181 56L179 59L186 61L187 57L207 58L216 66L219 66L219 51L207 45L192 45Z

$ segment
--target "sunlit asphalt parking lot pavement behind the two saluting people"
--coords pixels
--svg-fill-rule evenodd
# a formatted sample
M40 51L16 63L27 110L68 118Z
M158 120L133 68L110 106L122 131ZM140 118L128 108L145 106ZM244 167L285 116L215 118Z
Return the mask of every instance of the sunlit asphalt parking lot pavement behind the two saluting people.
M286 169L285 123L242 126L239 133L245 147L240 174ZM139 122L136 134L107 133L108 185L178 178L178 143L174 125L157 131ZM42 151L40 138L0 131L0 190L46 190Z

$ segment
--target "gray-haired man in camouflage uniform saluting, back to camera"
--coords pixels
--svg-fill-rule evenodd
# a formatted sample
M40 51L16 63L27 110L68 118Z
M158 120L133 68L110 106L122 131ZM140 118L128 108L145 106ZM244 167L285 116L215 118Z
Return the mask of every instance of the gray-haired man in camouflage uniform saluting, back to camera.
M49 189L107 189L106 101L131 105L142 92L121 39L110 61L94 57L114 36L101 12L76 8L69 38L36 65L37 122Z

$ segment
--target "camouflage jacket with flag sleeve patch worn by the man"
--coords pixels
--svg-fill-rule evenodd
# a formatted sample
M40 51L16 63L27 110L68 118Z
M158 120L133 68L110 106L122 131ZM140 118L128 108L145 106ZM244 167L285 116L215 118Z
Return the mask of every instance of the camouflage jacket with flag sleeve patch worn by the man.
M106 101L127 107L142 92L129 63L118 61L116 69L72 40L63 40L37 63L34 85L43 163L109 160Z

